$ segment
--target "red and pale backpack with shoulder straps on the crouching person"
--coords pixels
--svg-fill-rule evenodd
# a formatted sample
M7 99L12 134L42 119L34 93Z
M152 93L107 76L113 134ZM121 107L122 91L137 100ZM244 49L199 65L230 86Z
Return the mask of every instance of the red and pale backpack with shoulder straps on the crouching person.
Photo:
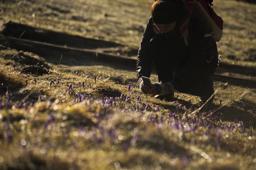
M185 44L188 45L189 34L188 34L188 23L193 11L200 15L203 19L204 24L209 30L209 34L204 35L205 37L212 36L216 42L221 40L223 34L223 20L218 16L212 9L213 0L184 0L188 7L187 16L181 21L180 33L184 37ZM153 28L155 33L159 33L158 28L154 25Z

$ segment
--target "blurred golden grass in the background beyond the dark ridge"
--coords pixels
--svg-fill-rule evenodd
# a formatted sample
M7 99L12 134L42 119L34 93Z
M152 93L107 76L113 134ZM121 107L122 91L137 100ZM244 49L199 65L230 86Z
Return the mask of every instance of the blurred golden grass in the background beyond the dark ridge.
M1 3L0 19L11 20L125 45L136 56L150 17L151 0L8 0ZM215 12L224 20L224 35L218 42L223 61L255 68L255 4L214 0Z

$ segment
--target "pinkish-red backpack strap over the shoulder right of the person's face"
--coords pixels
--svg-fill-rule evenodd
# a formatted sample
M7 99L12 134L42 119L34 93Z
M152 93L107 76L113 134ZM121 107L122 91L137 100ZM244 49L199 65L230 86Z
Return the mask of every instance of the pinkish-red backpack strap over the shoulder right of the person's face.
M180 33L184 37L185 44L188 45L188 39L189 39L189 34L188 34L188 23L189 19L192 13L192 4L187 4L188 7L188 14L187 16L181 21L181 26L180 26Z

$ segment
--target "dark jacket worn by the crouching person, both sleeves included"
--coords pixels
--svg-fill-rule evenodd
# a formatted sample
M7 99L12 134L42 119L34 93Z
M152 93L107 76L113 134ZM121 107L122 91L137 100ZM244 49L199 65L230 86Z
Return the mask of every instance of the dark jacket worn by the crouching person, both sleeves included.
M173 51L170 57L175 57L175 63L170 63L171 71L175 73L174 78L170 82L177 90L187 85L187 83L202 71L201 68L206 55L218 55L215 40L212 37L204 37L209 31L206 29L202 18L197 13L192 11L190 16L188 24L190 40L187 46L181 36L179 27L180 23L177 23L171 35L162 35L166 36L166 43L170 44L170 48ZM152 57L149 53L148 44L155 35L152 18L150 18L139 47L136 68L137 80L141 78L141 76L150 77L151 75Z

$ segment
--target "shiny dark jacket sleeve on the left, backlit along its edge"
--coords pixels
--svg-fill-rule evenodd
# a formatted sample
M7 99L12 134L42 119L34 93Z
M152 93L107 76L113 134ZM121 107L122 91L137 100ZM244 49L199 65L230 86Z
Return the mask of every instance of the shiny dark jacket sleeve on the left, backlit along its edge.
M151 75L151 63L152 59L149 56L149 47L148 43L155 35L153 25L152 25L152 18L148 20L148 24L145 28L145 31L142 35L141 43L139 46L139 52L137 56L137 81L142 77L150 77Z

